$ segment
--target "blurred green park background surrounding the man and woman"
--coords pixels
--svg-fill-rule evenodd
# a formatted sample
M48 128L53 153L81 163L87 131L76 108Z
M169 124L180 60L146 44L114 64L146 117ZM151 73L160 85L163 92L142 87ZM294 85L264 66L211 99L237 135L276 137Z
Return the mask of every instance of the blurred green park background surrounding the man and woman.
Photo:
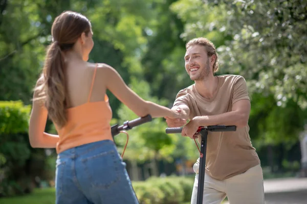
M193 83L185 43L211 40L217 75L243 75L248 83L250 137L267 203L307 203L306 8L303 0L0 0L0 203L55 201L56 152L30 147L28 120L51 25L64 10L91 20L91 62L113 66L144 99L168 107ZM112 124L137 117L108 96ZM154 119L129 131L123 159L140 203L190 200L198 149L165 127ZM46 132L56 133L50 121ZM116 137L120 152L125 142L124 134Z

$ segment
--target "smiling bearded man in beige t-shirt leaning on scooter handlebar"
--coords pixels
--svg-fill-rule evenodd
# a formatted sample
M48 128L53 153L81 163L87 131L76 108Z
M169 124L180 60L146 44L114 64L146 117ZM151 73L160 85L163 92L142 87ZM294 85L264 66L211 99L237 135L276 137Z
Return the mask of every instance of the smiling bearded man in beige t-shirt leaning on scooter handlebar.
M195 83L179 91L174 101L173 109L180 108L190 120L182 135L193 138L199 126L237 127L235 132L208 134L203 203L221 203L226 196L232 204L265 203L260 160L249 137L251 106L245 79L239 75L213 75L218 70L218 56L206 38L190 40L184 58L186 71ZM166 122L170 127L185 124L183 119L166 118ZM199 159L194 167L198 164ZM198 188L198 168L194 171L192 204L196 203Z

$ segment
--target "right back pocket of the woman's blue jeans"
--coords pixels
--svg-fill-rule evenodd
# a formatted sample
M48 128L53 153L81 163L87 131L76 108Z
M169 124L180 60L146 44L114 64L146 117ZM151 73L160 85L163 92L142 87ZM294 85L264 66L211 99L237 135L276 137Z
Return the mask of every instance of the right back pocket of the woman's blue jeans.
M107 189L120 180L121 161L115 150L81 159L81 163L93 188Z

